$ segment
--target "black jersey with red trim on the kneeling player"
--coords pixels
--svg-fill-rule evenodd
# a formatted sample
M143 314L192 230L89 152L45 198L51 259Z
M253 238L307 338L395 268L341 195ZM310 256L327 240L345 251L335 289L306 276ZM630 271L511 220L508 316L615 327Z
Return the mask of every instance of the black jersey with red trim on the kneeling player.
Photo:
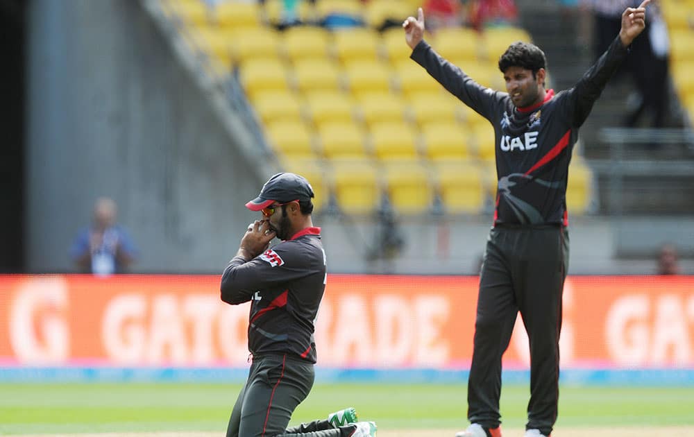
M221 277L221 300L251 301L248 350L316 362L314 321L325 291L320 228L306 228L246 262L233 257Z

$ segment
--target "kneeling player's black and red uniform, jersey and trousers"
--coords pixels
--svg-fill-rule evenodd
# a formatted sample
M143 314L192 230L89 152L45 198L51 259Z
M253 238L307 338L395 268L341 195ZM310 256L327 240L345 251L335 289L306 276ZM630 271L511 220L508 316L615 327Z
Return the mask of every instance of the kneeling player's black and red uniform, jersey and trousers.
M253 354L227 437L339 437L353 431L332 428L325 420L287 429L314 382L314 320L326 275L320 232L306 228L248 262L234 257L222 275L221 300L251 301L248 350Z

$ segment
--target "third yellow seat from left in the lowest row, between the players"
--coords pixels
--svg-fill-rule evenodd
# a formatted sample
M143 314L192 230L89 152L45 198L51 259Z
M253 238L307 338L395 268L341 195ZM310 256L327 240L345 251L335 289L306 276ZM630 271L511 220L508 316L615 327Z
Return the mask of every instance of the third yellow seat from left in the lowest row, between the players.
M383 165L384 185L396 214L423 214L433 205L428 169L418 160L389 160Z

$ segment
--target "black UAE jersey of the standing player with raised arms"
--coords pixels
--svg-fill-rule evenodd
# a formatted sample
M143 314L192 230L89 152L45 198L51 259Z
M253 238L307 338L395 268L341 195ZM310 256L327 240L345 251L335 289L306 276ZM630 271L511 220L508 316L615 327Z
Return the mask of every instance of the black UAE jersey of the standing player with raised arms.
M448 92L489 120L496 138L498 178L494 224L568 224L566 182L578 129L625 58L617 37L573 88L516 108L507 92L477 84L421 41L411 58Z

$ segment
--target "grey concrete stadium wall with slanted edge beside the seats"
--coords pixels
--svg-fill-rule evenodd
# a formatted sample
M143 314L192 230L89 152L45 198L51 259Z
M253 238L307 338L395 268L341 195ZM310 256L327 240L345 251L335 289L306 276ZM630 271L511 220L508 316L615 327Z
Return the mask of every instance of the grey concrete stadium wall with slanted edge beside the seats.
M248 132L224 128L139 2L34 0L28 15L28 271L74 269L99 196L137 243L134 271L221 271L266 180L235 144Z

